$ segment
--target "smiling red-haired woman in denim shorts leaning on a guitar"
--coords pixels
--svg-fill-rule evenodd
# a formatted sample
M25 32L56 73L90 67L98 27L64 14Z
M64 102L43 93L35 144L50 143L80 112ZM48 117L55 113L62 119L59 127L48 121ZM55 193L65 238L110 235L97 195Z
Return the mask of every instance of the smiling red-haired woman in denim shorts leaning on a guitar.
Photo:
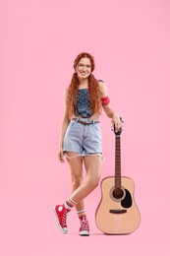
M75 73L65 93L65 114L62 122L58 159L66 157L72 175L73 193L62 205L54 207L58 225L68 232L67 214L76 207L81 221L80 235L89 235L85 215L85 197L98 185L101 173L102 146L99 115L103 107L118 131L120 117L110 106L106 86L92 75L94 59L86 52L79 54L74 62ZM83 182L83 164L86 177Z

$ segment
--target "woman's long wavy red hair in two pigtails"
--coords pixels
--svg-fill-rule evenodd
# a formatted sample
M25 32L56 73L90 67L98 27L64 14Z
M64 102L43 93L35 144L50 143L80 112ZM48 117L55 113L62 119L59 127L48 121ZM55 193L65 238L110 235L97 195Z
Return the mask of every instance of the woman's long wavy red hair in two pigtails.
M90 55L87 52L80 53L75 59L75 62L74 62L75 71L78 63L82 58L88 58L90 60L91 72L92 72L95 67L94 58L92 55ZM68 89L67 107L69 111L69 117L72 117L72 115L75 113L78 89L79 89L79 79L78 79L78 74L75 72L73 74L71 84ZM88 96L89 96L91 111L93 113L100 114L101 99L100 99L99 86L98 86L98 81L95 79L95 77L92 74L90 74L88 77Z

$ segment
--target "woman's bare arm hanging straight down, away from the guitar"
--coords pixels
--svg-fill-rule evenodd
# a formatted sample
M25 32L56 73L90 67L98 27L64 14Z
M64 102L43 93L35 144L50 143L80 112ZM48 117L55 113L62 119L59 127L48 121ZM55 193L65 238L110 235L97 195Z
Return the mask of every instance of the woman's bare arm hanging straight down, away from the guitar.
M67 108L67 95L68 95L68 90L65 92L65 100L64 100L64 116L61 124L61 131L60 131L60 141L59 141L59 152L58 152L58 159L61 162L64 162L64 156L63 156L63 140L64 136L67 130L67 127L70 123L69 119L69 113L68 113L68 108Z

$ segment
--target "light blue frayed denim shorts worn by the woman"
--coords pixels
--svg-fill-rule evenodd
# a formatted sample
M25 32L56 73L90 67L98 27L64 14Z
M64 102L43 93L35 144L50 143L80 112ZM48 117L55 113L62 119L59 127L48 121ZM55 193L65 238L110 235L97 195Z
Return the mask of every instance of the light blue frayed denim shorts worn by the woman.
M102 156L99 123L82 124L71 120L64 136L63 152L74 152L77 156L82 157L86 155Z

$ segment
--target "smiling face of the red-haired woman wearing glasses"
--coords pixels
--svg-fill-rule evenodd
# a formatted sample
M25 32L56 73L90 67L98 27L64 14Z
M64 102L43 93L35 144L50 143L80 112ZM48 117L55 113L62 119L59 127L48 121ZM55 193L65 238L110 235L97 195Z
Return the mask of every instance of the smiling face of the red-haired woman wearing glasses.
M82 58L77 65L76 71L80 79L87 78L91 74L90 59Z

